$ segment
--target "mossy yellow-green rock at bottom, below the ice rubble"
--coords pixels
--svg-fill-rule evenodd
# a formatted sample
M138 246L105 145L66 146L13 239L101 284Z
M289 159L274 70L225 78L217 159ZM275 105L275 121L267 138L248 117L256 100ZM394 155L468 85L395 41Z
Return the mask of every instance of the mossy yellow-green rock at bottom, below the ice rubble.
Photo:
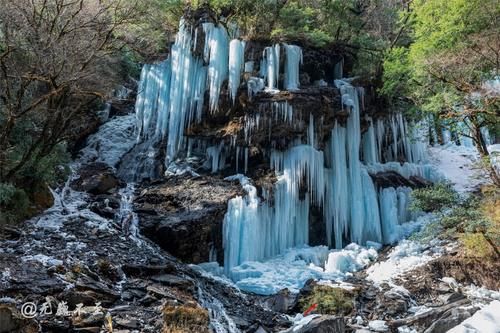
M315 285L310 294L299 300L301 311L317 304L316 312L321 314L347 315L354 307L353 295L344 289Z

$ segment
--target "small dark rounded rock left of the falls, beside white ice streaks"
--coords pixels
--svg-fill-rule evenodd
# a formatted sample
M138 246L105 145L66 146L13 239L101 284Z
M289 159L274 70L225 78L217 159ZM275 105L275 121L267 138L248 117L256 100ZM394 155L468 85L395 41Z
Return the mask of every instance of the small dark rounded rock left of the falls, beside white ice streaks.
M108 194L120 185L113 170L104 163L84 165L78 171L79 178L70 185L73 189L91 194Z

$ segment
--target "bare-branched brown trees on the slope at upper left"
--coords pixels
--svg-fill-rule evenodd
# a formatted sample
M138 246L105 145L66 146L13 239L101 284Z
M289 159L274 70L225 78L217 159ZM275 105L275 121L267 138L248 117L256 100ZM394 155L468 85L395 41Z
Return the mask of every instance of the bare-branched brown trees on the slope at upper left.
M117 83L116 32L135 15L130 0L0 0L0 182L85 126Z

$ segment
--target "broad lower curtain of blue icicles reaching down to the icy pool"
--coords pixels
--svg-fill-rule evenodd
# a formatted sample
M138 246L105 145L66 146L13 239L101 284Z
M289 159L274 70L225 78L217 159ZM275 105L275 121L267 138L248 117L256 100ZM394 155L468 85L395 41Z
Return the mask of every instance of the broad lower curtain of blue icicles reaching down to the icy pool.
M346 127L335 124L325 153L315 148L311 115L306 142L299 141L286 151L271 152L271 168L278 178L272 196L266 194L258 198L255 188L246 180L247 196L229 202L224 219L224 262L228 276L242 278L233 276L236 273L232 268L245 261L262 260L286 248L307 244L310 206L322 208L330 246L339 248L347 241L392 243L399 236L400 224L410 218L411 190L405 187L377 189L369 171L399 166L397 171L406 177L437 179L430 167L378 163L381 150L373 123L363 140L363 154L369 156L369 164L365 166L359 159L362 91L345 81L336 81L336 85L344 107L350 112ZM399 135L401 130L398 130Z

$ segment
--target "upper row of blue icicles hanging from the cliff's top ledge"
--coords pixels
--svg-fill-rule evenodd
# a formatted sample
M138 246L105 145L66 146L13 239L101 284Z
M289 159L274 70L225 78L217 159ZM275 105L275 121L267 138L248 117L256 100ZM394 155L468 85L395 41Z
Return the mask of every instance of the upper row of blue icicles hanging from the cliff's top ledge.
M207 22L202 29L205 36L202 58L193 51L198 44L198 29L181 20L170 57L158 64L144 65L141 72L136 102L138 139L151 140L151 145L165 140L167 165L185 147L185 129L202 120L205 93L208 92L208 109L214 113L219 110L223 83L228 82L229 97L235 103L242 72L253 72L253 62L245 63L245 42L230 41L222 25ZM261 77L250 77L247 81L250 99L265 88L266 82L268 89L278 88L280 49L279 44L265 48ZM285 49L285 88L298 89L302 51L295 45L285 45ZM259 126L258 119L253 123ZM212 163L216 161L217 149L207 151Z

